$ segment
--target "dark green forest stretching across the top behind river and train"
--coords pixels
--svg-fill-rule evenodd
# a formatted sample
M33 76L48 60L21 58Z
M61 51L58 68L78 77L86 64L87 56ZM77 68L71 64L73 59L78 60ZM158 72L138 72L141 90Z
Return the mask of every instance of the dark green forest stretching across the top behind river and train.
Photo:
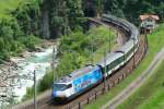
M162 0L26 0L17 5L0 15L0 62L34 50L40 39L85 32L85 16L108 13L138 25L140 14L157 14L164 21Z

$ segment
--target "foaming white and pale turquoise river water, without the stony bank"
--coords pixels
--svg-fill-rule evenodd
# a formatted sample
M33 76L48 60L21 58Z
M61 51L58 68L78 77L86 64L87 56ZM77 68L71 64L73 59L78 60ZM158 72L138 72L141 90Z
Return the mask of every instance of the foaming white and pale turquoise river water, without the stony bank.
M57 47L55 48L57 49ZM17 57L11 58L11 60L16 63L16 66L9 66L10 70L5 70L7 73L4 72L4 74L8 75L5 85L8 85L0 89L0 94L4 94L7 97L14 97L14 100L21 101L26 94L26 88L34 85L34 70L38 81L50 69L52 47L44 49L42 52L31 52L26 58ZM5 101L3 104L8 105Z

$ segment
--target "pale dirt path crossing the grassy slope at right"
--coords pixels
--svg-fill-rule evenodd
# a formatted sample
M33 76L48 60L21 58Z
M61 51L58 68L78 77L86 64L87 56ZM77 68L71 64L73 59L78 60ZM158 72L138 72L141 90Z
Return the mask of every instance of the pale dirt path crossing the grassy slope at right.
M141 73L141 75L134 80L128 87L126 87L121 93L119 93L115 98L105 104L102 109L115 109L124 100L126 100L134 90L140 87L153 73L156 66L164 60L164 48L154 57L152 63L149 68Z

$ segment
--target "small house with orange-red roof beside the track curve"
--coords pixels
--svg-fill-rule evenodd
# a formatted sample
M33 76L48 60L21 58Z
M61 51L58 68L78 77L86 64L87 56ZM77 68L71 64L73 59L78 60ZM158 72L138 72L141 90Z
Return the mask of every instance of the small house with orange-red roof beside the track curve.
M157 15L140 15L141 32L147 31L148 33L151 33L156 27L156 22L159 20Z

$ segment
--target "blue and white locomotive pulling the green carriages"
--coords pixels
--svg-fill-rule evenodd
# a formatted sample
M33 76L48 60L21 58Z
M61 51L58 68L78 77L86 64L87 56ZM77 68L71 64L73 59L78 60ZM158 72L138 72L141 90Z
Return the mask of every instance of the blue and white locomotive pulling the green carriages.
M103 73L98 65L87 65L63 76L52 85L54 100L69 100L101 83Z

